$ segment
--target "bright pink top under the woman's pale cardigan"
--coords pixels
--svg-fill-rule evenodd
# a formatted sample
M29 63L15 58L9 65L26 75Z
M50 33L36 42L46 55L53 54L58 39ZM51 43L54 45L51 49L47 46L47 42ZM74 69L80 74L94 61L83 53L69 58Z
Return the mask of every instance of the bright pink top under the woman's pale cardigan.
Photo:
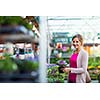
M77 68L77 56L78 54L73 53L70 57L70 67L71 68ZM76 74L75 73L69 73L69 82L70 83L76 83Z

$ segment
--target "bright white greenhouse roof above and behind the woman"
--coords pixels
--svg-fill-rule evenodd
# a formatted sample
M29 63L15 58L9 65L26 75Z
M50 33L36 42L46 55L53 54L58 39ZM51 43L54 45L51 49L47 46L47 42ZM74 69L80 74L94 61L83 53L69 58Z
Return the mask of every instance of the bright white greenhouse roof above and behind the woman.
M69 36L82 34L85 42L100 42L100 16L48 16L48 32L69 32Z

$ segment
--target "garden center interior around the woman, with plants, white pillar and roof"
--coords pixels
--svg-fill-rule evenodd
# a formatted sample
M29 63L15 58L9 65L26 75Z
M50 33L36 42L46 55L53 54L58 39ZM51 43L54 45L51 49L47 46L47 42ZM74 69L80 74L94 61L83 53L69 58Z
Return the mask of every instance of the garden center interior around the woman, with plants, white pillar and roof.
M100 82L100 16L0 16L0 82L65 83L71 40L84 38L88 70ZM9 54L9 55L8 55Z

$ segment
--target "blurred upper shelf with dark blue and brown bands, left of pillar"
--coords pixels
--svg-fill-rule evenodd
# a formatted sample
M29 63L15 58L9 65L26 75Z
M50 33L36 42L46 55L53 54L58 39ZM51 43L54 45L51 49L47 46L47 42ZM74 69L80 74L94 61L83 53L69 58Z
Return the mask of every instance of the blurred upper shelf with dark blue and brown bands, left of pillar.
M5 42L12 43L30 43L38 42L32 31L27 30L24 26L0 26L0 44Z

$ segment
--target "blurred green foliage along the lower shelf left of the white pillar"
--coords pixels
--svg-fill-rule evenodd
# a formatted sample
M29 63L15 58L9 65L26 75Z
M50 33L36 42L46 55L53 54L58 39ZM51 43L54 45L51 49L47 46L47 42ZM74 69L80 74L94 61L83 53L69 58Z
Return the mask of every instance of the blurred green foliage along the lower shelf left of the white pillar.
M39 67L38 62L11 58L9 54L4 54L4 59L0 60L0 72L32 72Z

